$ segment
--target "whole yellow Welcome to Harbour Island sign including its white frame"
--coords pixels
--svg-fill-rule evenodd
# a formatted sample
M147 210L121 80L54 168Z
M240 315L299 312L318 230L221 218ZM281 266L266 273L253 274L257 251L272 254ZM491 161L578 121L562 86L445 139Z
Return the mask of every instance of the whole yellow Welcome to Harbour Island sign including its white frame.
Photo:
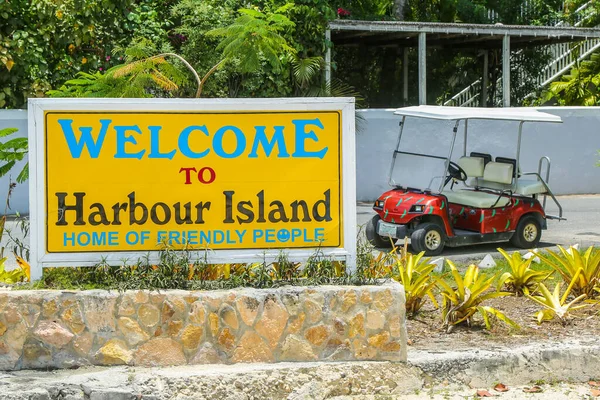
M352 99L34 99L29 121L40 268L164 245L353 263Z

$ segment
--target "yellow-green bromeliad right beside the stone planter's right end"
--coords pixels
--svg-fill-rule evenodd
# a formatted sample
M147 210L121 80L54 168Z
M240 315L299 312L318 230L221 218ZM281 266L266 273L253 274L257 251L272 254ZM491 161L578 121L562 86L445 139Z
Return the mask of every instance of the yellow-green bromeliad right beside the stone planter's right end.
M430 258L423 258L425 252L410 254L407 245L408 242L405 242L401 255L397 256L392 266L392 279L404 286L406 314L408 317L414 317L423 306L425 296L431 299L436 308L439 307L433 295L439 278L431 275L436 265L430 262Z

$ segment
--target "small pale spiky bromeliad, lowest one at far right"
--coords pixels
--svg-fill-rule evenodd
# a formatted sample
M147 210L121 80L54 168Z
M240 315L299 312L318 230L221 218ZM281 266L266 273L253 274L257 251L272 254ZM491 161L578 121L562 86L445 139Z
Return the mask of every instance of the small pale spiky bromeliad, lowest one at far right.
M567 298L575 286L575 282L577 282L577 278L580 274L581 270L575 273L575 276L571 280L571 283L562 296L560 295L561 282L556 283L552 293L550 293L546 285L543 283L540 283L538 286L540 293L539 295L531 296L528 293L525 293L525 296L527 296L529 299L544 307L543 310L535 313L538 324L541 324L543 321L550 321L554 318L557 318L563 325L565 325L568 322L568 317L573 310L577 310L586 306L586 304L575 305L587 297L585 294L581 294L567 303Z

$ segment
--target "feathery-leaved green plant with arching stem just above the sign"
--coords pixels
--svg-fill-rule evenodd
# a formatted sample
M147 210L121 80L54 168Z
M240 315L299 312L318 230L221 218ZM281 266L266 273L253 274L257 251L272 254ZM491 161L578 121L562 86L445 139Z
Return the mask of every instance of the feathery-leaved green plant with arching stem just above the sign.
M49 94L80 97L94 92L94 96L104 97L165 97L175 93L186 82L183 65L194 76L197 84L195 97L200 97L207 79L225 63L234 63L240 72L251 73L261 67L262 60L266 60L273 71L280 71L282 60L295 55L295 49L280 34L294 26L283 15L291 6L288 4L274 12L240 9L241 16L231 25L208 31L208 36L222 38L216 47L222 55L203 78L182 56L172 51L158 52L150 41L138 40L125 49L116 49L117 54L124 54L124 64L111 68L104 75L79 74L78 79L68 81ZM167 58L173 58L175 62L169 62ZM298 74L309 67L310 64L301 64Z

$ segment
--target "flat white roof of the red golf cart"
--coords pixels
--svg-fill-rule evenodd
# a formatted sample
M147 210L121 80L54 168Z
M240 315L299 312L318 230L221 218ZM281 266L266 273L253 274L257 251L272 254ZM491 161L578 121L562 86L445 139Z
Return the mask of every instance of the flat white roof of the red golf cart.
M535 108L474 108L474 107L445 107L445 106L415 106L399 108L397 115L417 118L461 120L461 119L491 119L524 122L562 122L557 115L540 112Z

